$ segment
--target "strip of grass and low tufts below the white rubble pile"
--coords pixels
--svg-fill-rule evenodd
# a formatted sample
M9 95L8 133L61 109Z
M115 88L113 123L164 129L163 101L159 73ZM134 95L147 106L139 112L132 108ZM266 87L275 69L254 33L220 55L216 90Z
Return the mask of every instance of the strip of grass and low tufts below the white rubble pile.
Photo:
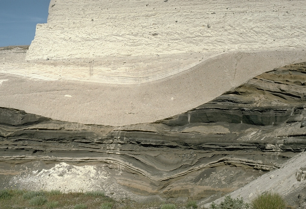
M160 206L158 201L139 203L128 198L116 201L102 191L62 193L58 190L0 190L0 208L6 209L144 209Z

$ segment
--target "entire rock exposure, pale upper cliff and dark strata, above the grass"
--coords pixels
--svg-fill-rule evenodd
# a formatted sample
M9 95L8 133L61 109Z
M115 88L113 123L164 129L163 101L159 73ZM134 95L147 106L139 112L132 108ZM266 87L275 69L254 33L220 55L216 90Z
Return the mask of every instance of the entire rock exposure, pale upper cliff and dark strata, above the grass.
M304 8L51 0L27 51L0 49L0 186L204 205L284 171L303 193Z

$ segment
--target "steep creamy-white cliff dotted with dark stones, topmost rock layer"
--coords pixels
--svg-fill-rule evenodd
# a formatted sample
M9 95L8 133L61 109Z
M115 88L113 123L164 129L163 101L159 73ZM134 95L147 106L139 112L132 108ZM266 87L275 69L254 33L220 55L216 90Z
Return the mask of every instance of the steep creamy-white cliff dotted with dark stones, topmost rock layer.
M27 59L300 48L305 20L304 0L51 0Z

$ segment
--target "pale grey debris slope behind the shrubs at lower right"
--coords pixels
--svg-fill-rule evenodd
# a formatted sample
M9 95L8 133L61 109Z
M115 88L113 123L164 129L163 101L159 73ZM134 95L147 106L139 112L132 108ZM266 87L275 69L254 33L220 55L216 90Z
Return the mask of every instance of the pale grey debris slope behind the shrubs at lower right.
M238 197L250 202L263 192L277 192L289 203L289 208L304 209L306 206L304 195L306 192L306 182L303 181L303 171L305 168L301 166L306 165L305 159L306 153L302 152L285 162L282 168L263 174L251 183L231 192L229 195L235 199ZM224 197L215 200L215 202L220 203L223 200ZM207 198L200 201L199 205L201 205L201 208L208 208L211 204L210 201Z

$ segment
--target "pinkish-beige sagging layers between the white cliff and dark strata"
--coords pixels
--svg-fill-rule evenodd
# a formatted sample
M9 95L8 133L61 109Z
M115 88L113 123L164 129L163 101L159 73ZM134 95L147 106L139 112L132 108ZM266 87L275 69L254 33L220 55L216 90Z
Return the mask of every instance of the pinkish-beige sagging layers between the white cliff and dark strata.
M28 62L19 50L0 50L1 58L0 106L54 120L122 126L191 110L274 67L303 62L306 52Z

